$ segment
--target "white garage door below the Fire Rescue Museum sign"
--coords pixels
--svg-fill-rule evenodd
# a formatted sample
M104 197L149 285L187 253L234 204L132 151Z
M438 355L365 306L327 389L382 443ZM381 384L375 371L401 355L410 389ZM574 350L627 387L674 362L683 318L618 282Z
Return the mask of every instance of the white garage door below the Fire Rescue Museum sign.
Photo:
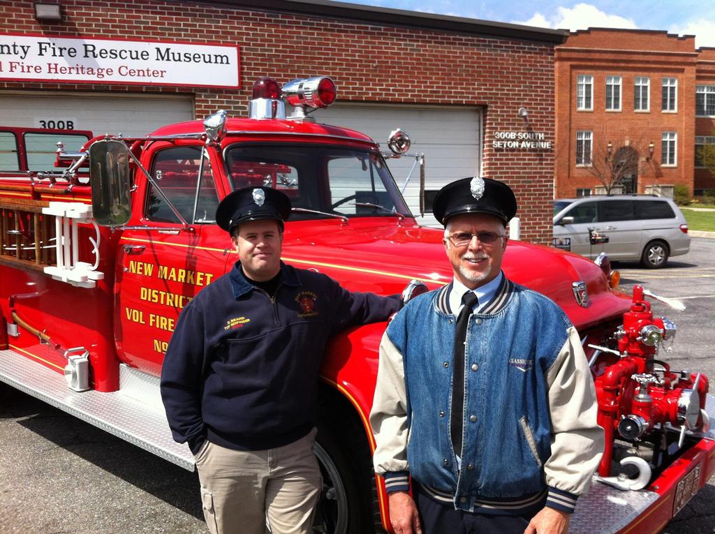
M95 94L0 94L0 125L147 135L164 124L194 118L191 97Z

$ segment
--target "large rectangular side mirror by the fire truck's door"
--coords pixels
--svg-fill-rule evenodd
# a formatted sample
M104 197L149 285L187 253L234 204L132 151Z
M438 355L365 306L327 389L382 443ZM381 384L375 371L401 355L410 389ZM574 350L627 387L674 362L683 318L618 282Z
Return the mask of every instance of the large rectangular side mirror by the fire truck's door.
M92 213L97 224L122 226L132 212L129 192L129 150L122 141L107 139L89 147L89 183Z

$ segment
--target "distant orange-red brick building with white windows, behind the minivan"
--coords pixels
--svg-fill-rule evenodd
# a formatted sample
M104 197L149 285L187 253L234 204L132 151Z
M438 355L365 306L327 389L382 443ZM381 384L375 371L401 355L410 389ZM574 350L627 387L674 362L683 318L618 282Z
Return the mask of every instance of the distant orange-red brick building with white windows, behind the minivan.
M556 197L715 189L715 49L665 31L588 29L556 47Z

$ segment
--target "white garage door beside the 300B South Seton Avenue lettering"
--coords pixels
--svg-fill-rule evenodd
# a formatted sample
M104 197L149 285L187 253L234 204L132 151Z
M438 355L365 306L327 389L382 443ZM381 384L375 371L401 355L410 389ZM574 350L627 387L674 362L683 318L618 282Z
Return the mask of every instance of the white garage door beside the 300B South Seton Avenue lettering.
M337 104L315 112L317 122L358 130L380 143L389 152L387 139L395 128L410 134L410 154L425 154L425 190L436 192L455 179L476 176L480 172L481 112L475 107L411 107L386 104ZM408 177L415 159L389 159L390 171L400 188ZM420 211L420 173L415 167L407 189L407 200L413 214ZM429 202L428 202L429 204ZM437 225L431 214L420 224Z

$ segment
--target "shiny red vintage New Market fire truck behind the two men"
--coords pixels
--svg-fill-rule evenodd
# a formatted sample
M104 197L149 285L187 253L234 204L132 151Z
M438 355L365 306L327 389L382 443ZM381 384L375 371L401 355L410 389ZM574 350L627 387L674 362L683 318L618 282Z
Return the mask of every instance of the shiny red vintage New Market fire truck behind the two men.
M334 99L326 77L262 79L250 118L218 112L147 137L97 137L60 149L61 171L1 174L0 380L192 470L169 433L159 373L182 307L237 259L213 217L240 187L292 199L285 262L383 295L447 284L442 232L416 224L388 171L392 154L312 119ZM403 132L388 145L408 149ZM566 311L596 383L606 451L571 531L658 532L715 470L707 377L661 359L675 325L654 317L640 287L615 290L606 257L512 240L503 270ZM322 532L388 529L368 424L384 330L343 332L325 357Z

